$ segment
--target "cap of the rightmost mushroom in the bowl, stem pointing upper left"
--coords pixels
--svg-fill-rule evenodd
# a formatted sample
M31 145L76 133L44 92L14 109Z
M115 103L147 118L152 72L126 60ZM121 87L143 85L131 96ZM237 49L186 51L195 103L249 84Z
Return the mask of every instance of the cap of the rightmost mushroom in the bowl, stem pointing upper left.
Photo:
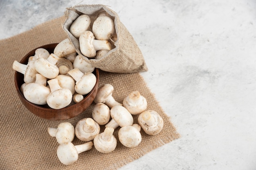
M96 81L96 76L91 72L87 72L79 81L76 82L75 91L82 95L88 94L92 91Z

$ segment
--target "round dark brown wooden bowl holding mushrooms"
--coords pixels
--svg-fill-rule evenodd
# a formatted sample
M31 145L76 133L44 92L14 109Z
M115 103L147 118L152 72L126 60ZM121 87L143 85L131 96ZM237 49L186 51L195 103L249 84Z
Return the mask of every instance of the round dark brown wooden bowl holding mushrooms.
M57 43L56 44L47 44L45 46L40 46L38 48L44 48L44 49L48 50L49 53L51 54L51 53L53 53L56 45L57 45ZM23 57L20 60L20 63L27 64L29 57L34 56L36 49L30 51L27 55L25 55L25 57ZM34 113L36 116L38 116L40 118L44 118L44 119L48 119L48 120L67 120L67 119L70 119L70 118L73 118L73 117L79 115L80 113L85 111L85 109L87 109L92 104L92 102L97 94L97 91L98 91L99 70L97 68L95 68L94 72L92 72L92 73L97 78L96 84L94 85L92 91L89 94L84 95L84 99L81 102L75 103L72 101L72 103L70 103L70 105L68 105L67 107L64 107L62 109L52 109L48 105L36 105L34 103L29 102L20 91L20 86L24 83L24 80L23 80L24 75L19 72L15 72L14 81L15 81L15 86L16 86L16 90L18 93L18 97L20 98L23 105L25 105L25 107L29 111L31 111L32 113Z

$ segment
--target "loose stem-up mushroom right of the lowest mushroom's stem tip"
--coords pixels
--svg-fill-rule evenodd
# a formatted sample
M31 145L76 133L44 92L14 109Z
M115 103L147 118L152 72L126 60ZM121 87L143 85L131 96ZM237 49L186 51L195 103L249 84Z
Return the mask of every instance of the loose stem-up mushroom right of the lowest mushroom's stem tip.
M106 127L103 133L97 135L94 140L94 147L101 153L110 153L117 147L117 139L113 135L114 129Z

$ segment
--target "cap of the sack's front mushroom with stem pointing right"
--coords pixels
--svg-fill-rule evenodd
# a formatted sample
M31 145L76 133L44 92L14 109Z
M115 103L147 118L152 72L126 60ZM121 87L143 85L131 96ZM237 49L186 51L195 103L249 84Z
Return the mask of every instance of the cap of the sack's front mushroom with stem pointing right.
M96 50L93 46L93 40L95 39L91 31L83 32L79 37L79 46L81 53L89 58L95 57Z

